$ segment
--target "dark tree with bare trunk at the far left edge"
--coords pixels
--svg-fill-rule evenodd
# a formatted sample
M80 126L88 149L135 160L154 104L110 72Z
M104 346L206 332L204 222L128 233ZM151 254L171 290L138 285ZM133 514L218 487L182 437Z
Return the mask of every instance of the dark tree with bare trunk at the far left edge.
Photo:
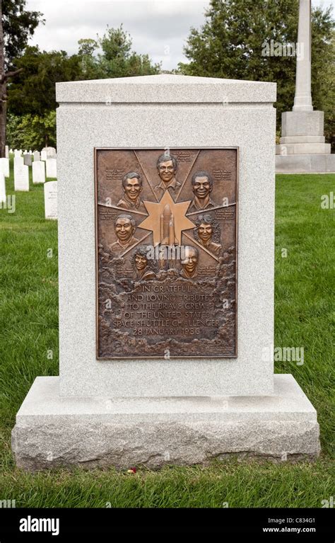
M42 13L25 10L26 0L0 0L0 156L5 156L8 80L21 72L13 59L33 35Z

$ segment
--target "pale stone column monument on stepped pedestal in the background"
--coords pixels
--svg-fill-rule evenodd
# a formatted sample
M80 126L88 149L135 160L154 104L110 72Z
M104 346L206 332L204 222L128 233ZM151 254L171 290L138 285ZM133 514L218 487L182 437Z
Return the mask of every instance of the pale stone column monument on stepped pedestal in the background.
M311 93L311 1L300 0L295 98L292 111L281 115L281 143L276 146L276 172L335 171L335 155L324 142L324 112L313 111Z

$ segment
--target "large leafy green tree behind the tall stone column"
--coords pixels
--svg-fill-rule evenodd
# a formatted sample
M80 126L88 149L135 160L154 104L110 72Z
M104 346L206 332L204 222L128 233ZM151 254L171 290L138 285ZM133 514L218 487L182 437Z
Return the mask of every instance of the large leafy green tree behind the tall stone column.
M273 40L281 46L297 42L298 0L211 0L206 21L192 28L184 47L189 64L180 71L195 76L277 82L278 122L291 110L295 93L294 55L267 56L265 45ZM331 8L312 10L312 98L315 108L328 93L331 38L334 21ZM285 55L286 53L286 55ZM334 58L334 57L333 57Z

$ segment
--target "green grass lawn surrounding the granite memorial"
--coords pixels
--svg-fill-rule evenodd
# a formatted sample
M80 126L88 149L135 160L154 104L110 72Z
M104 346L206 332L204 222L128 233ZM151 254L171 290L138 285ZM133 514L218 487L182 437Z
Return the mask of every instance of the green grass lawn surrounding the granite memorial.
M12 162L7 195L14 194ZM135 474L82 468L27 474L15 467L15 414L37 375L59 373L57 222L44 218L43 185L30 179L29 193L15 193L16 212L0 210L0 500L15 500L16 507L318 508L332 503L335 209L322 209L321 202L334 191L334 181L331 174L276 178L274 345L304 348L304 358L303 363L276 361L275 372L292 373L317 409L319 459L273 464L227 458L207 467L150 471L136 466Z

